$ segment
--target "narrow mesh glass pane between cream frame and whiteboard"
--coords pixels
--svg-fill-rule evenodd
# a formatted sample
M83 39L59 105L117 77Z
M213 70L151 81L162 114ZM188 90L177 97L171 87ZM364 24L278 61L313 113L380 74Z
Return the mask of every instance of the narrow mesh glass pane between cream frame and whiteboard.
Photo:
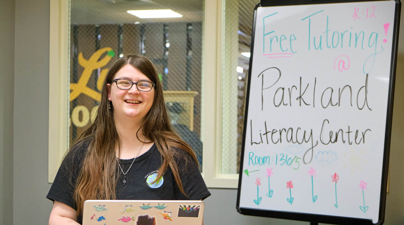
M236 174L244 126L254 8L259 1L224 0L222 34L222 171Z

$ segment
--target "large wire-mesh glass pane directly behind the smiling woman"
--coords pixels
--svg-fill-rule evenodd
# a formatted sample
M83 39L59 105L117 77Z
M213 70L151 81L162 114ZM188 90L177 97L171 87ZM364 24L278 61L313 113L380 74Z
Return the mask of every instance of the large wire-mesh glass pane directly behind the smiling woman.
M202 169L201 67L203 1L71 0L69 145L94 121L112 63L144 55L157 67L173 127ZM171 9L178 18L141 19L128 10Z

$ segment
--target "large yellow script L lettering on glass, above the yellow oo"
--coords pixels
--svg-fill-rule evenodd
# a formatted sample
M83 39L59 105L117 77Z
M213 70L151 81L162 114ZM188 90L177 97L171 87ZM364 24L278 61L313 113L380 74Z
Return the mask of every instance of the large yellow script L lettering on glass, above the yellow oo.
M107 55L103 59L99 58L103 53L107 52ZM84 67L84 71L80 76L80 79L78 80L77 83L71 83L70 84L70 101L73 101L76 99L81 93L84 95L87 95L88 97L96 100L96 101L101 101L101 93L99 93L97 90L93 90L89 87L87 87L88 80L90 79L91 73L98 68L101 68L112 59L112 57L115 56L114 51L112 48L101 48L97 50L91 57L90 59L86 60L83 57L83 54L80 53L78 55L78 63ZM101 90L102 84L105 80L105 76L107 76L108 69L103 69L100 73L100 76L97 80L97 88L98 90Z

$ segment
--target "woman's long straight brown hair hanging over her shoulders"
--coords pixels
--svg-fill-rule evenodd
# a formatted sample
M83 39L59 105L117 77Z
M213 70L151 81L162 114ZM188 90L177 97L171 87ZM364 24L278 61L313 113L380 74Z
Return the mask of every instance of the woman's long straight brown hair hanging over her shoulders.
M168 166L170 166L180 191L186 196L187 193L184 192L175 159L184 158L186 162L188 157L181 154L181 151L177 151L177 149L185 150L198 163L191 147L182 141L171 128L164 103L162 86L153 63L141 55L126 55L118 59L109 70L101 91L101 103L97 111L97 117L94 123L76 141L76 143L82 143L86 140L90 141L86 155L82 161L78 179L72 184L78 215L82 213L83 202L85 200L116 199L118 162L116 160L115 149L116 146L119 149L120 141L114 123L113 105L110 104L111 109L108 106L107 84L110 84L119 69L127 64L139 69L155 84L154 101L144 118L143 135L147 139L154 141L164 159L158 169L156 181L160 179Z

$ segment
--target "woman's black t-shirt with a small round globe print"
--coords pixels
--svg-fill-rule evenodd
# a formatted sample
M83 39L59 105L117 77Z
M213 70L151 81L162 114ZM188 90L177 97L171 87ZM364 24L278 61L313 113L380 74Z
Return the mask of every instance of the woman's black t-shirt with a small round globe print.
M75 145L69 151L63 160L55 181L50 187L46 198L62 202L75 210L77 207L73 200L73 188L69 185L69 179L74 184L80 172L82 161L85 157L90 141L84 141L81 144ZM116 187L116 199L118 200L200 200L210 196L210 192L202 179L202 175L198 170L196 162L184 150L181 151L187 157L185 160L177 160L178 172L183 185L184 192L188 197L177 187L173 172L168 166L166 172L158 182L152 184L156 179L158 168L162 163L162 156L154 144L147 152L136 158L132 167L126 174L126 185L123 185L123 175L119 170L119 180ZM126 172L133 159L120 160L122 170ZM72 171L72 176L66 169L67 164L73 163L76 170ZM78 223L82 223L82 216L77 218Z

